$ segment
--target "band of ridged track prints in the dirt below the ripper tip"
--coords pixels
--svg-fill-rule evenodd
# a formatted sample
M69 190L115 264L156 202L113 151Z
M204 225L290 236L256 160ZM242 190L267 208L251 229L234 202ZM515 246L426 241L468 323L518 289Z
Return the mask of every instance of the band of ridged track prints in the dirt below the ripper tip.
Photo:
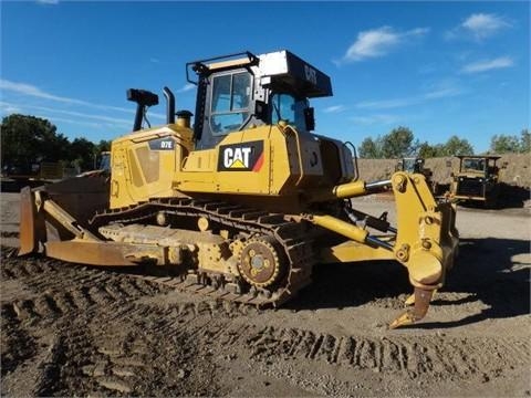
M409 378L466 379L529 363L528 342L511 337L333 336L296 328L254 328L244 341L251 358L310 359ZM488 354L487 354L488 353ZM493 355L492 355L493 354ZM493 359L496 358L496 360Z

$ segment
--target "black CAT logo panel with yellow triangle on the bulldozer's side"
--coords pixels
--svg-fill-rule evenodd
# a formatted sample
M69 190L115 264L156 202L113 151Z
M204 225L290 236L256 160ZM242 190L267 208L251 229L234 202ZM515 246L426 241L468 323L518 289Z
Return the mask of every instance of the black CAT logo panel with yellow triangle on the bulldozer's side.
M260 171L263 165L263 142L221 145L218 171Z

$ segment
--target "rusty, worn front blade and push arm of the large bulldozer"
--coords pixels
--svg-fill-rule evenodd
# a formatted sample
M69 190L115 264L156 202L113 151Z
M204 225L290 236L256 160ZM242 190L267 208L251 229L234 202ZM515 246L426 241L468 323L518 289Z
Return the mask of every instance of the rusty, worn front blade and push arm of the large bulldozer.
M88 265L133 266L160 263L157 244L110 242L88 219L106 203L105 180L83 176L21 191L19 255L42 251L46 256ZM175 260L175 259L174 259Z

